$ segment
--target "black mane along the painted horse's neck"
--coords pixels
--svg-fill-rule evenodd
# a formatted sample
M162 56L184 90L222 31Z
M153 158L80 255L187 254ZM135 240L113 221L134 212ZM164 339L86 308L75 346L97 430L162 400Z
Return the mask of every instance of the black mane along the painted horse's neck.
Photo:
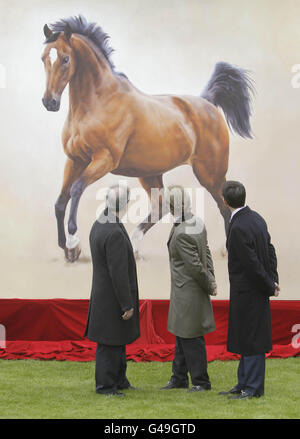
M49 28L54 32L50 38L47 38L45 44L56 41L60 32L70 29L72 33L83 35L89 38L101 50L105 59L109 63L111 69L114 71L115 66L111 60L111 54L114 51L110 47L107 35L97 23L88 23L85 17L78 15L78 17L63 18L55 23L49 25ZM125 76L125 75L124 75Z

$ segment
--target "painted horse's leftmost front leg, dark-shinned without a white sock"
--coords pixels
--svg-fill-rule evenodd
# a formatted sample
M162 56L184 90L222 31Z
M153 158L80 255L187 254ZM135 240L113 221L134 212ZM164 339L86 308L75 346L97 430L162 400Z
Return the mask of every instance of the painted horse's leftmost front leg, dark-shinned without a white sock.
M62 189L59 197L55 203L55 216L57 220L57 233L58 233L58 245L60 248L65 249L66 246L66 234L64 218L66 213L67 204L70 200L70 190L74 181L80 176L83 170L87 167L88 163L81 161L73 161L67 159L64 169L64 177Z

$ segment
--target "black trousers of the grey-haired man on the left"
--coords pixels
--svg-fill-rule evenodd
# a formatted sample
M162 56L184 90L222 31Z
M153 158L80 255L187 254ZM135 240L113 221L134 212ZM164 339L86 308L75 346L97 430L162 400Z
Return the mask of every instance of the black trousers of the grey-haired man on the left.
M98 393L110 393L129 387L126 368L126 346L97 343L95 378Z

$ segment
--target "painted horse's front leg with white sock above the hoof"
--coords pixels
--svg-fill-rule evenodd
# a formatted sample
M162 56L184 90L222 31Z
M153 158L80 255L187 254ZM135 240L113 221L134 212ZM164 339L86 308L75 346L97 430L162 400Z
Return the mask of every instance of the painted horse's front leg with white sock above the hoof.
M76 236L77 211L80 197L87 186L99 180L113 168L114 162L110 152L103 149L92 158L90 164L72 184L70 191L71 208L68 221L68 237L65 247L65 255L69 262L75 262L80 255L79 238Z

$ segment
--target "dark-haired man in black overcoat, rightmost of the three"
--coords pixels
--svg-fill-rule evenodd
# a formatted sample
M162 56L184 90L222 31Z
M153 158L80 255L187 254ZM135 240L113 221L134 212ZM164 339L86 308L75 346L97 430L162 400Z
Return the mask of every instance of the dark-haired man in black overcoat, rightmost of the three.
M278 296L277 258L265 220L245 206L246 191L236 181L224 184L231 210L227 234L230 306L227 349L241 355L238 383L230 399L264 394L265 353L272 349L270 296Z

